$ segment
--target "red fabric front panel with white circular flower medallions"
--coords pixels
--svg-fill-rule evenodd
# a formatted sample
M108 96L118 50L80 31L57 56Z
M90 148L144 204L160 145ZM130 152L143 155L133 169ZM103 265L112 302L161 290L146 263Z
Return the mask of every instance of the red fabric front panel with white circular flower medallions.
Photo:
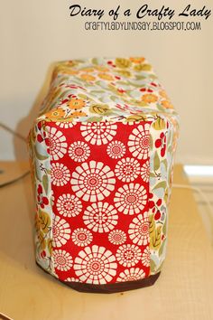
M60 280L106 284L149 276L149 128L149 122L45 127Z

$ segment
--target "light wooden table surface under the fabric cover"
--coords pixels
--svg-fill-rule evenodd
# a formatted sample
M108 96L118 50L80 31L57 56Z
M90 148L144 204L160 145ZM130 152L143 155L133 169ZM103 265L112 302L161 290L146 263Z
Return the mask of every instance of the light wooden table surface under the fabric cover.
M0 168L3 181L27 165ZM174 181L188 184L181 165ZM156 284L113 295L76 292L36 267L29 175L0 189L0 208L0 313L14 320L213 319L213 252L190 190L173 189L167 259Z

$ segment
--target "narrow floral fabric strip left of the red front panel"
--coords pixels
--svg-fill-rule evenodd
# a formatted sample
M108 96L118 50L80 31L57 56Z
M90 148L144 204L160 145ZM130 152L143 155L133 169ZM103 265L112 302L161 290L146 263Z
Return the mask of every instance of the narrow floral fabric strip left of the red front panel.
M54 275L52 251L52 197L51 156L48 136L43 121L32 128L31 150L33 159L33 180L36 202L35 213L35 258L37 263Z

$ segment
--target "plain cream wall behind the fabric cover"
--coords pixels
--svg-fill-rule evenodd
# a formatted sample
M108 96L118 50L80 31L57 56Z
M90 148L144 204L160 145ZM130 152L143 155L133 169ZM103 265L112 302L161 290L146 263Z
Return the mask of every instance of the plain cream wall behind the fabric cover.
M145 2L1 1L1 122L27 134L45 91L43 84L52 61L100 55L144 55L153 63L181 115L177 160L213 164L213 17L202 23L199 32L86 32L85 19L69 17L69 5L74 3L106 9L121 5L135 10ZM170 5L177 11L189 4L188 1L177 4L175 0L147 3L153 7ZM211 8L212 1L193 0L193 6L203 5ZM27 156L23 143L14 141L3 130L0 139L1 159Z

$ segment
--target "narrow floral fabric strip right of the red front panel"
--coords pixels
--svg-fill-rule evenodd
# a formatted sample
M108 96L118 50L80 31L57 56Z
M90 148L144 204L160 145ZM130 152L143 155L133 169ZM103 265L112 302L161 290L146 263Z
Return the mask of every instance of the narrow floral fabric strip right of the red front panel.
M162 269L166 254L173 127L166 118L161 118L160 126L159 119L156 119L153 121L150 134L149 221L151 275L153 275Z

